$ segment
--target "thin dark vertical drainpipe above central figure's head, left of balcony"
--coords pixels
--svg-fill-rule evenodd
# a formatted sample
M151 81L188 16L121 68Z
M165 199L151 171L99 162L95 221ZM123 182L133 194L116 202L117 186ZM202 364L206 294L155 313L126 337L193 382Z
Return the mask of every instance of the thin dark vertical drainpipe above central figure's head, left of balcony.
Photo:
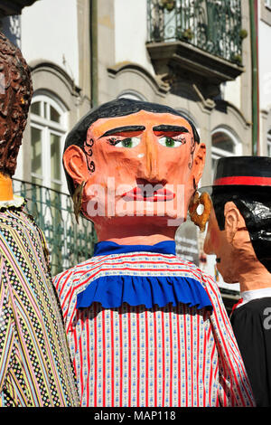
M98 106L98 0L90 0L90 88L91 106Z

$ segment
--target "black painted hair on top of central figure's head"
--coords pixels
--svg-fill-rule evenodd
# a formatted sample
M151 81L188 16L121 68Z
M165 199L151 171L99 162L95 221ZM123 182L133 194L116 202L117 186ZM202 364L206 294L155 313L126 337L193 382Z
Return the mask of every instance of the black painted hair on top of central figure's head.
M195 143L200 143L200 137L197 132L196 127L193 125L192 121L182 115L181 112L170 108L165 105L161 105L159 103L150 103L142 100L134 100L134 99L114 99L110 102L104 103L103 105L98 106L95 109L91 109L83 118L79 120L75 127L73 127L66 137L64 152L65 150L71 146L76 145L83 149L84 144L87 140L87 132L89 127L96 122L99 118L114 118L114 117L124 117L126 115L135 114L140 110L145 110L147 112L154 113L169 113L173 115L177 115L179 117L185 118L187 122L192 127L192 133ZM90 146L91 147L91 146ZM74 192L74 184L73 181L65 170L68 188L70 194L72 195Z

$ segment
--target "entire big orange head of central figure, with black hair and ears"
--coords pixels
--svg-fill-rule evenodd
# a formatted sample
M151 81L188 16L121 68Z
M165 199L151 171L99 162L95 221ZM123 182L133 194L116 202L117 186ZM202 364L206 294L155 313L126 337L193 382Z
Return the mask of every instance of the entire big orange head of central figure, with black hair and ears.
M90 111L66 139L63 163L70 194L81 193L81 213L121 229L147 222L177 226L204 165L196 129L174 109L116 99Z

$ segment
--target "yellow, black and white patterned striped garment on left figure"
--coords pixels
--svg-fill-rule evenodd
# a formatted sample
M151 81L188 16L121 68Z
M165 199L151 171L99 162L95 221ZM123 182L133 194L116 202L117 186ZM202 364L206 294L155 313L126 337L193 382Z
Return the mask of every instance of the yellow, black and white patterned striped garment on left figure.
M42 231L0 203L0 406L78 406Z

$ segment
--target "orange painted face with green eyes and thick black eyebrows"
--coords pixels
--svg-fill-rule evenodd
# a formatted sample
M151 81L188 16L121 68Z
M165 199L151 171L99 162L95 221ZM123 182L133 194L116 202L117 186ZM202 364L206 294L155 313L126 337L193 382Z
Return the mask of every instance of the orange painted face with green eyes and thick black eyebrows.
M188 121L169 113L98 119L84 147L84 214L93 222L102 215L185 219L194 191L194 149Z

